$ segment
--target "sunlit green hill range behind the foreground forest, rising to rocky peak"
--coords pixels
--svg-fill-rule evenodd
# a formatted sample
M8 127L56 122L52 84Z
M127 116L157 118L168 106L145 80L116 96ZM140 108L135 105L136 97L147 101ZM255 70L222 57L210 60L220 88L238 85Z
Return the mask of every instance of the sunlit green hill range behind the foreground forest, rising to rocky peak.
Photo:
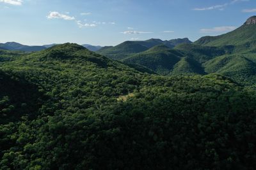
M99 53L131 66L136 64L146 67L164 76L218 73L243 85L252 86L256 80L255 21L256 17L248 18L234 31L220 36L206 36L195 43L189 43L186 39L168 41L168 43L172 41L172 45L175 46L173 47L164 44L166 41L161 42L160 39L127 41L118 46L102 49ZM151 46L147 46L148 42ZM131 48L126 48L128 43ZM135 50L135 44L140 47L147 46L149 49L145 50L137 46ZM129 49L129 52L123 49Z

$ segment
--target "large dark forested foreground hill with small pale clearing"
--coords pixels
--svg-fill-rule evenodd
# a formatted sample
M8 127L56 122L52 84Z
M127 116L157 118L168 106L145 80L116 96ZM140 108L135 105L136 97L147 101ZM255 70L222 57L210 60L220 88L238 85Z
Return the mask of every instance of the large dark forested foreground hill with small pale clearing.
M256 166L256 94L228 77L141 73L70 43L0 52L0 169Z

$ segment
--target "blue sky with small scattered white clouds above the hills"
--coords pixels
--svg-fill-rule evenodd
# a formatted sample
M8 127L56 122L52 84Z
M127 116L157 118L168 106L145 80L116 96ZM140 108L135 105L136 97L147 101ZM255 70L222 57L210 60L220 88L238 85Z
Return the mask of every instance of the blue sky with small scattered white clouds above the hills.
M0 0L0 42L196 41L232 31L252 15L255 0Z

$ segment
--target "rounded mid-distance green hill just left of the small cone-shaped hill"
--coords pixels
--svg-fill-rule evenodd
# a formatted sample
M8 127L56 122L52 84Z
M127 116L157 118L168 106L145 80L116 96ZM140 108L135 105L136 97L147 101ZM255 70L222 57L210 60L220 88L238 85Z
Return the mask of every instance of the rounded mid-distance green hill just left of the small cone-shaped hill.
M165 45L158 45L149 50L132 55L122 60L132 64L145 66L158 74L169 74L173 66L183 57L182 53L168 48Z

